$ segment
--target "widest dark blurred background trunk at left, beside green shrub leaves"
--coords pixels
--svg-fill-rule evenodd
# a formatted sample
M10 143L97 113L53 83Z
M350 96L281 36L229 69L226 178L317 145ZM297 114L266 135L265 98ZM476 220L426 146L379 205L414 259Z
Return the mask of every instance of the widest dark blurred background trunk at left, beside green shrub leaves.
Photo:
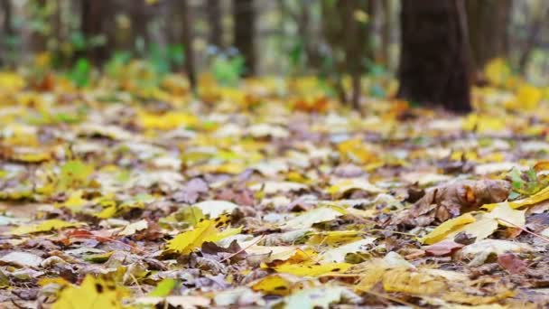
M102 23L104 14L108 11L108 1L104 0L82 0L80 7L81 29L86 40L104 32ZM105 45L87 47L86 55L96 65L107 61L108 51Z

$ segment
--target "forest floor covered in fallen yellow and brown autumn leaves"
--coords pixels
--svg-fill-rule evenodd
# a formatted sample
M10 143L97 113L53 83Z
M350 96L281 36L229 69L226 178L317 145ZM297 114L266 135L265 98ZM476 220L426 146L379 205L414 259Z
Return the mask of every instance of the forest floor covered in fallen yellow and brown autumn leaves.
M3 307L549 305L543 89L0 84Z

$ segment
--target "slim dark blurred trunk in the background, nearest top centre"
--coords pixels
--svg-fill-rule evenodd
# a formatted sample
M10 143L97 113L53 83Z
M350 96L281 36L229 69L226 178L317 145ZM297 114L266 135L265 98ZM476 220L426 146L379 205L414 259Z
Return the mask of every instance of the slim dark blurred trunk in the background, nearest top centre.
M256 9L254 0L233 0L234 40L244 57L244 76L256 74Z

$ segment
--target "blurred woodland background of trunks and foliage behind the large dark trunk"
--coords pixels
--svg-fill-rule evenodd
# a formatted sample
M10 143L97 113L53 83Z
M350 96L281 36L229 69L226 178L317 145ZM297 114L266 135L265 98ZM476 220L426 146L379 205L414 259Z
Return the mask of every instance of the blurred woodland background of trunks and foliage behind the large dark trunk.
M338 79L358 66L361 74L394 76L398 67L398 0L0 3L1 65L65 70L82 85L95 68L113 71L136 59L154 74L184 72L191 84L202 73L230 84L265 75ZM466 0L465 7L479 75L501 59L505 70L544 84L549 1Z

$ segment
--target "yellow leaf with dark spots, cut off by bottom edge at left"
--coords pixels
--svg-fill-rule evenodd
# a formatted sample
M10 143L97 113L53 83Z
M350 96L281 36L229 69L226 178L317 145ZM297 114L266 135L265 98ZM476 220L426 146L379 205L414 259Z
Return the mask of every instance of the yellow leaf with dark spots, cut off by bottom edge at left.
M122 298L128 295L126 289L115 282L88 275L80 286L67 286L60 295L53 309L104 309L123 308Z

